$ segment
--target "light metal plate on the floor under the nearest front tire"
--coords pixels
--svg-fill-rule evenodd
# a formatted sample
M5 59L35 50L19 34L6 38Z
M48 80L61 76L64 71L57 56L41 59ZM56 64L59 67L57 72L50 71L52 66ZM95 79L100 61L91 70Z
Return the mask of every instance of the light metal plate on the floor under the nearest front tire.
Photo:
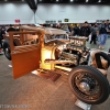
M91 105L85 103L82 101L80 101L79 99L76 100L75 105L79 108L81 108L82 110L90 110Z

